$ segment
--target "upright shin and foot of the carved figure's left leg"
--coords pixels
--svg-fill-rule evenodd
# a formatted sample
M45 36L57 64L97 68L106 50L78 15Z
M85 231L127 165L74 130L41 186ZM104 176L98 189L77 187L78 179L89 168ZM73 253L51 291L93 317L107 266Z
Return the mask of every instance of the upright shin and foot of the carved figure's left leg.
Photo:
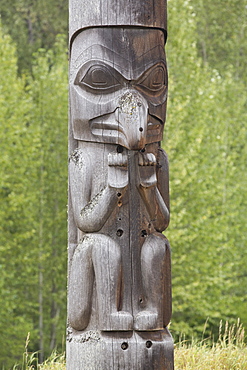
M122 279L120 247L106 235L95 234L93 238L92 260L96 278L99 329L102 331L132 330L132 315L118 311Z

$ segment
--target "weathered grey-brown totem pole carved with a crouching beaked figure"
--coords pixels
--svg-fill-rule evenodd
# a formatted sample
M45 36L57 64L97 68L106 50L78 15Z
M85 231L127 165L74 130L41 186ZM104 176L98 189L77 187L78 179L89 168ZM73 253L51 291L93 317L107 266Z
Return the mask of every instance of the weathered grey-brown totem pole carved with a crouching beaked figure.
M165 0L70 0L68 370L172 370Z

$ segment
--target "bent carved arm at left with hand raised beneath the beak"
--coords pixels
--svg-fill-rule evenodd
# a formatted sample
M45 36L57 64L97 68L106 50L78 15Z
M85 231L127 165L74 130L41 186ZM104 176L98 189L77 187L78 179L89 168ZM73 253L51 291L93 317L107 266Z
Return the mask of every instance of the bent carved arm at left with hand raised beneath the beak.
M120 153L109 153L107 183L91 198L92 174L85 162L86 158L83 158L78 149L70 157L69 176L74 219L80 230L97 232L117 206L119 197L126 191L128 173L124 156Z

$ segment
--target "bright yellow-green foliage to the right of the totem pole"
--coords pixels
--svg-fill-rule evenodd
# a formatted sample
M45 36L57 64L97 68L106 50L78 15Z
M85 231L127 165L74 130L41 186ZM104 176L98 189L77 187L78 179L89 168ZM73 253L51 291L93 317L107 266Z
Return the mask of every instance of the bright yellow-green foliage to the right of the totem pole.
M246 89L234 71L204 65L190 1L171 1L170 90L164 147L170 157L174 334L209 317L247 324ZM180 23L176 14L179 12ZM182 23L183 22L183 23ZM179 52L178 52L179 50Z

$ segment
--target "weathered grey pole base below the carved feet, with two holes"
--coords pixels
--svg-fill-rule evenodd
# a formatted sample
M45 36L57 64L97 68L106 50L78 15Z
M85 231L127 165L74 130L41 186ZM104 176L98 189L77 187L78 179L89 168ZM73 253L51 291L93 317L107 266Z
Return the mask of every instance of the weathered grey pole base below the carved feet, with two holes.
M87 331L71 339L66 361L69 369L173 370L173 341L166 330Z

